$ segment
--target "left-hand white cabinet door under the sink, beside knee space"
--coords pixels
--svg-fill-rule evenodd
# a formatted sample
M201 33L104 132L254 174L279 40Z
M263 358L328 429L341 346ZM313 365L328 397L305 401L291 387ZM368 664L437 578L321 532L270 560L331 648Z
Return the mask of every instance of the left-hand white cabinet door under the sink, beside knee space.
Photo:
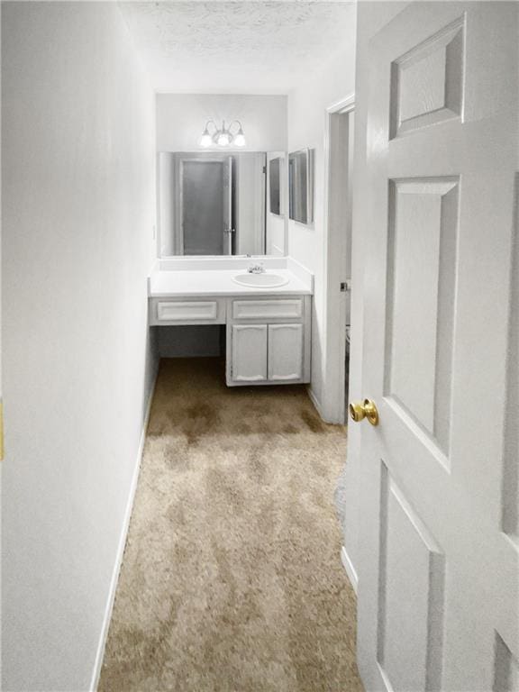
M232 325L232 379L261 382L267 379L267 324Z

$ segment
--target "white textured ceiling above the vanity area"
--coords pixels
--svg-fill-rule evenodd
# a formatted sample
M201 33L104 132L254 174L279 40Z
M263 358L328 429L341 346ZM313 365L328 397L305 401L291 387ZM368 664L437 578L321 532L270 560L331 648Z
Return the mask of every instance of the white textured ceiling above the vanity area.
M354 2L122 2L157 91L286 94L355 40Z

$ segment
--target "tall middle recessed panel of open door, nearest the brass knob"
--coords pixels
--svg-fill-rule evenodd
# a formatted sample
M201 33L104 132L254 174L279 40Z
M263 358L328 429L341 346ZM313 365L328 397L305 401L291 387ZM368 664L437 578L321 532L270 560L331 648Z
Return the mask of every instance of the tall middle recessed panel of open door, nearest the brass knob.
M444 453L451 412L458 187L457 178L389 181L384 394ZM420 378L412 377L410 363L420 363Z

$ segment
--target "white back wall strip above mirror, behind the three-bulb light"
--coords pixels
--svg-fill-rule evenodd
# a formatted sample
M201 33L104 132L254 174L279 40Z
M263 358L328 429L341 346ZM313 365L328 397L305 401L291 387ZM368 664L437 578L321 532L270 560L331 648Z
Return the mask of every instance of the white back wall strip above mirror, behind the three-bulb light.
M287 150L287 96L158 94L157 150L198 151L205 123L239 120L246 151ZM220 150L221 151L221 150Z

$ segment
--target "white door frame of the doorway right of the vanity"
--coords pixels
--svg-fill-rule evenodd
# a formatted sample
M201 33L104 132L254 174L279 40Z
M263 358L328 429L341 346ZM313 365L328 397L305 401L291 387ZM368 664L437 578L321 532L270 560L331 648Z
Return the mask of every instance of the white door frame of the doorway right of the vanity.
M326 282L324 293L325 314L325 355L324 355L324 387L322 414L329 423L344 423L346 420L344 405L344 390L346 380L346 314L342 309L343 300L340 284L347 282L347 290L351 292L351 269L347 267L347 244L344 234L341 212L336 208L343 196L344 186L351 189L352 180L348 176L348 161L350 152L348 146L348 116L355 110L355 94L346 96L340 101L328 106L325 112L324 127L324 266L323 276ZM346 123L346 133L344 125ZM334 142L346 137L346 168L344 156L338 155L339 149ZM343 142L344 143L344 142ZM351 144L351 146L353 146ZM351 194L348 195L351 200ZM351 209L350 237L351 237Z

